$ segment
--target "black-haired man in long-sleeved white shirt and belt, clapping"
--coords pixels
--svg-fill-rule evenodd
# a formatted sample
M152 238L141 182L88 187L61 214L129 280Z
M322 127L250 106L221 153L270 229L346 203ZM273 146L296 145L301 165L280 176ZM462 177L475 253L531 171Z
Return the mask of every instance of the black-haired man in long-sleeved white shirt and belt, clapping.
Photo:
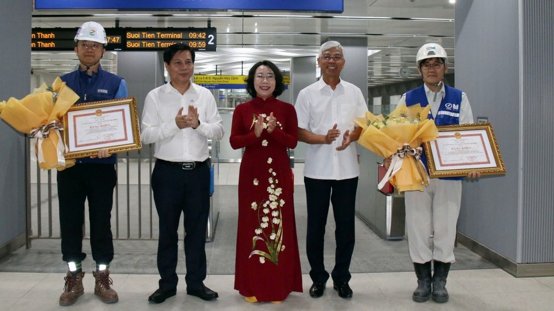
M151 185L160 220L160 281L148 301L162 303L176 294L181 213L187 294L210 301L218 294L203 284L210 188L208 139L223 137L223 123L213 94L191 82L194 51L188 45L174 44L163 52L163 61L170 83L148 93L142 113L142 143L155 144Z

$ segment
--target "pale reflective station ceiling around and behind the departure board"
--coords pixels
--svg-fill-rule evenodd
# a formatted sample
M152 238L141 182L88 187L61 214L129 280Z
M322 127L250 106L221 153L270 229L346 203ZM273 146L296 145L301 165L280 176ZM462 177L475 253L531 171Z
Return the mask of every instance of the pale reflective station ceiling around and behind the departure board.
M367 36L368 86L402 81L398 70L416 70L416 52L429 42L442 44L454 71L454 5L448 0L345 0L345 12L121 12L115 10L34 11L33 27L78 27L95 20L111 27L216 27L216 52L198 52L195 71L240 75L254 62L269 59L281 70L290 58L316 55L328 36ZM102 67L116 72L117 53L107 53ZM60 75L75 68L74 53L33 52L35 72Z

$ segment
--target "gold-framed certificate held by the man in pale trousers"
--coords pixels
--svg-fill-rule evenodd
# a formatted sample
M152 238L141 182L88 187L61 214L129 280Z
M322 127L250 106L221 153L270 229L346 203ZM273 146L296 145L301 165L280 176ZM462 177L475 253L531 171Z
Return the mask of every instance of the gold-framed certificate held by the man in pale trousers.
M437 126L437 140L423 144L429 177L504 174L506 168L490 123Z

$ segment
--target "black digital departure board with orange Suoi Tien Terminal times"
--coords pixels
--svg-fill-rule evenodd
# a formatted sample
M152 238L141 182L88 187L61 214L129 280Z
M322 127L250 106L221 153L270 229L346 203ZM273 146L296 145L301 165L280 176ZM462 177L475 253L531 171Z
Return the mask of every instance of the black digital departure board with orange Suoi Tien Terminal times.
M106 50L163 51L175 43L195 51L216 51L216 28L105 28ZM32 51L68 51L75 48L77 28L33 28Z

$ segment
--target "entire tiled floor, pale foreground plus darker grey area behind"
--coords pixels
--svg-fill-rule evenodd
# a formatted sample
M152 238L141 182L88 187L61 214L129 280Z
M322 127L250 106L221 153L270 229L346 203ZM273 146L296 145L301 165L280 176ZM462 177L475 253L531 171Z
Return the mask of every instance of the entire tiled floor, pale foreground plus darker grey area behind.
M455 249L456 263L448 277L450 301L444 304L428 301L416 303L411 299L417 286L407 254L406 241L386 241L373 233L360 220L356 220L356 248L352 260L354 272L350 285L352 299L342 299L327 284L325 295L311 298L307 291L311 281L305 258L305 196L302 185L302 165L295 168L295 210L304 293L292 293L281 304L248 303L233 289L234 238L236 234L236 197L238 164L221 165L216 178L220 214L216 239L206 245L208 277L206 286L219 292L214 302L204 302L185 294L184 282L179 283L176 297L156 305L147 297L157 288L155 268L155 241L118 240L116 258L112 262L114 288L120 301L104 304L94 295L94 279L91 275L94 262L85 260L85 294L71 307L60 307L58 298L63 291L64 269L60 261L59 240L40 239L33 242L33 249L18 250L0 261L0 311L1 310L554 310L554 277L515 278L495 268L490 262L473 254L465 247ZM147 168L146 168L147 170ZM54 174L55 175L55 174ZM126 178L120 177L120 183ZM136 176L129 177L135 178ZM143 176L141 175L141 180ZM126 181L126 179L125 179ZM147 181L147 180L146 180ZM139 183L139 182L135 182ZM144 180L141 182L144 183ZM225 203L225 204L223 204ZM330 213L331 214L331 213ZM330 215L332 217L332 215ZM327 226L326 265L332 265L334 226L330 219ZM85 251L89 252L88 241ZM182 247L182 245L179 245ZM184 265L179 257L178 269L184 275ZM332 267L329 267L332 268ZM395 272L392 272L395 271ZM260 276L260 286L263 286Z

